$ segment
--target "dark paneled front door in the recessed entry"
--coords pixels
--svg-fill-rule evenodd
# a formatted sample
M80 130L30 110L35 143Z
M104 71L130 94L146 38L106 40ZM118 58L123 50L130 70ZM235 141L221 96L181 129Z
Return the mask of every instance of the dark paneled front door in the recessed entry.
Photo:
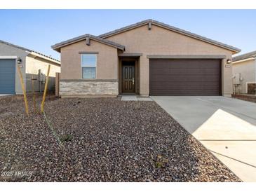
M122 62L122 92L135 92L135 62Z

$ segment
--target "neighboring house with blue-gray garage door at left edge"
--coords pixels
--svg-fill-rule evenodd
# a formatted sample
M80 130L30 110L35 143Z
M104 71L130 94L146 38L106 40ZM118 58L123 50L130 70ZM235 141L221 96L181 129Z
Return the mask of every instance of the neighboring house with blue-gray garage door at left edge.
M22 94L18 67L22 71L27 92L32 91L32 76L37 79L34 80L34 90L39 91L40 87L43 90L44 82L39 82L39 69L41 74L46 75L48 64L50 64L48 90L54 90L55 73L60 72L60 61L0 40L0 94ZM42 78L41 80L44 81Z

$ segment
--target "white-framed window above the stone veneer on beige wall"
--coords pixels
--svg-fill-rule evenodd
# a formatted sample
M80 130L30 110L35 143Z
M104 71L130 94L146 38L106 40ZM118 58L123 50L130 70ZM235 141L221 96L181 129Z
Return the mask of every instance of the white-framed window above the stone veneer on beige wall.
M96 78L97 54L81 54L82 78Z

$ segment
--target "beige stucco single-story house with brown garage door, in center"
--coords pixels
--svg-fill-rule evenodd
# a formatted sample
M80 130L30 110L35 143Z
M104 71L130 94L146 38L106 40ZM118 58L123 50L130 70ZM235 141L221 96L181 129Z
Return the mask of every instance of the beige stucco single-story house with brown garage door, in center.
M52 48L61 53L60 96L231 95L231 57L241 51L155 20Z

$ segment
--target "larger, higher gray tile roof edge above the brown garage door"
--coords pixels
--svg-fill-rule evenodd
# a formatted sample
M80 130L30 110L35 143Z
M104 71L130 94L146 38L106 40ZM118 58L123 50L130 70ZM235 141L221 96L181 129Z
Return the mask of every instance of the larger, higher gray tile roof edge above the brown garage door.
M187 31L185 31L185 30L183 30L183 29L179 29L179 28L177 28L177 27L173 27L173 26L167 25L167 24L165 24L165 23L163 23L163 22L159 22L159 21L156 21L156 20L143 20L143 21L137 22L137 23L135 23L135 24L133 24L133 25L128 25L128 26L126 26L126 27L122 27L122 28L120 28L120 29L116 29L116 30L114 30L114 31L112 31L112 32L107 32L107 33L105 33L105 34L101 34L101 35L99 35L99 37L101 37L101 38L107 38L107 36L112 36L112 35L114 35L114 34L118 34L118 33L121 33L121 32L123 32L123 31L126 31L126 30L128 30L128 29L133 29L133 28L135 28L135 27L140 27L140 26L145 25L145 24L147 24L147 23L149 23L149 22L151 22L151 23L154 24L154 25L159 25L160 27L165 27L166 29L170 29L171 31L174 31L174 32L177 32L177 33L180 33L180 34L184 34L184 35L187 35L187 36L191 36L192 38L200 39L201 41L206 41L206 42L208 42L208 43L212 43L212 44L214 44L214 45L216 45L216 46L220 46L220 47L226 48L226 49L228 49L228 50L232 50L232 51L234 51L234 52L236 52L236 53L238 53L238 52L241 51L241 49L236 48L236 47L234 47L234 46L229 46L229 45L227 45L227 44L225 44L225 43L220 43L219 41L214 41L214 40L208 39L208 38L206 38L206 37L204 37L204 36L200 36L200 35L198 35L198 34L194 34L194 33L191 33L191 32L187 32Z

